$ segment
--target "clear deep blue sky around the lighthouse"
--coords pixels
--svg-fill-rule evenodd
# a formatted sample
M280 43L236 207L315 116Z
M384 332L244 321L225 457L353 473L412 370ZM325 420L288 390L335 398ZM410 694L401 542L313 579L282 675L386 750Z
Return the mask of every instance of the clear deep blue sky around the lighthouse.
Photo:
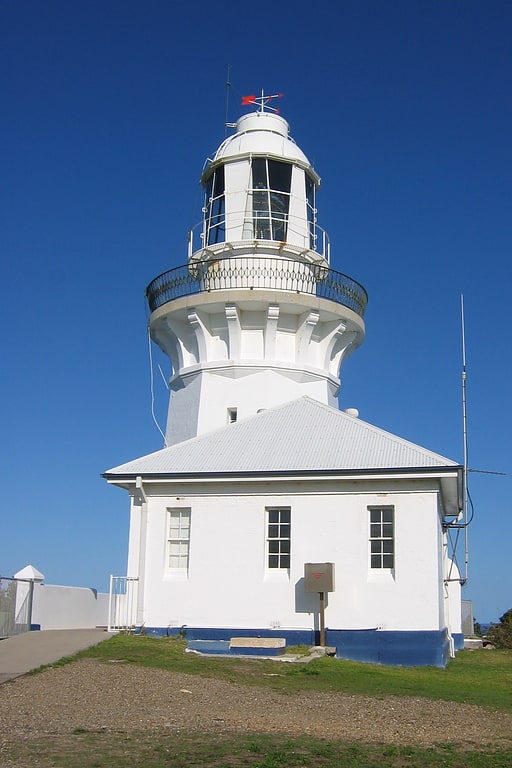
M470 475L464 596L511 608L510 2L2 0L0 36L0 574L125 573L100 473L162 447L144 288L186 261L230 65L230 121L284 94L332 266L369 293L341 407L460 462L464 294L469 466L506 473Z

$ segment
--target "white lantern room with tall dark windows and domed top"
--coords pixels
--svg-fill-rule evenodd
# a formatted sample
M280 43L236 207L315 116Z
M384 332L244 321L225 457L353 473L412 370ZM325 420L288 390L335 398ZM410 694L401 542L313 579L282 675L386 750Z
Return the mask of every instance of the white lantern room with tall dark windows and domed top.
M316 219L320 178L286 120L259 111L234 127L202 175L201 242L190 257L218 258L233 244L239 250L258 241L269 254L328 262L328 238Z

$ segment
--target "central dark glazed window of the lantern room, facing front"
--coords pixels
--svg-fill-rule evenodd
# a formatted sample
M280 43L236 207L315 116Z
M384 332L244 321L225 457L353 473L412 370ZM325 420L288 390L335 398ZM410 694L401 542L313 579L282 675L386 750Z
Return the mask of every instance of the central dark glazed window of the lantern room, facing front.
M252 161L252 216L259 240L286 240L292 166L256 157Z

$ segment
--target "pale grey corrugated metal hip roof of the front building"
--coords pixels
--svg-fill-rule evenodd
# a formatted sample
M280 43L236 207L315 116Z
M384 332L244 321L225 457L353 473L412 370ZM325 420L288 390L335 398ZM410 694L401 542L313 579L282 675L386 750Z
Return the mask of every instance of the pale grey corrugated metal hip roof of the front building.
M457 462L301 397L105 473L183 475L456 467Z

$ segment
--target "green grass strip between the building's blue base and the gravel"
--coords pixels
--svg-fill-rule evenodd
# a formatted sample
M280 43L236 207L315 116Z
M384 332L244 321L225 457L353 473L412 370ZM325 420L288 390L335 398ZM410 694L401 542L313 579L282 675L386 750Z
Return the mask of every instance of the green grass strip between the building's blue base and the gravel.
M201 657L186 641L116 635L78 657L123 660L281 692L414 696L512 710L512 650L461 651L446 669L384 667L324 657L309 663Z

